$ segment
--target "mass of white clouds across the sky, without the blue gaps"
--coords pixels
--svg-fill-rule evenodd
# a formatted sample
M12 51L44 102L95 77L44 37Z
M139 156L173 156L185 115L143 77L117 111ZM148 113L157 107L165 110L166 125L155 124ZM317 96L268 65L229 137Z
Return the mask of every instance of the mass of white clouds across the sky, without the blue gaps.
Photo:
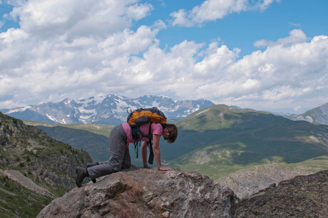
M133 28L153 6L136 0L93 2L12 2L11 16L21 26L0 33L0 108L100 93L172 94L259 109L328 101L328 36L309 38L294 29L285 38L255 42L262 51L243 57L239 48L220 40L162 48L158 33L168 28L164 21ZM252 2L266 9L273 1ZM202 15L217 7L205 1L193 13L180 11L181 19L201 24L250 7L249 1L219 3L225 4L220 13Z

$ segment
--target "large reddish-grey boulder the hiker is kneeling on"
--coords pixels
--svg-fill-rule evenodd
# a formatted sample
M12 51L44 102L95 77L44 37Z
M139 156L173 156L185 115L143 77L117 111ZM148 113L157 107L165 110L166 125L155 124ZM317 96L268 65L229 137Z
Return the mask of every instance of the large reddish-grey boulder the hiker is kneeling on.
M71 190L38 217L231 217L233 200L198 172L135 167Z

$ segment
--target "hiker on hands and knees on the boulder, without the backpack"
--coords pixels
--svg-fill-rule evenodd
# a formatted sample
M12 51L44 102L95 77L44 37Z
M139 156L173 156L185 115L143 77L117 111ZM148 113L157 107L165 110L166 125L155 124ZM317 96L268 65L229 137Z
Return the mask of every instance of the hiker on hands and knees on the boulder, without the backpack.
M160 136L163 135L164 140L168 143L175 142L178 137L178 128L174 124L166 123L146 123L140 125L141 135L150 134L153 136L152 139L148 137L140 137L143 141L141 146L141 155L143 157L143 167L148 167L147 164L147 142L153 140L153 155L155 157L158 170L174 170L170 167L163 167L160 163ZM121 171L122 169L128 169L131 167L131 157L128 149L128 145L133 143L132 131L128 123L122 123L116 125L111 130L110 135L110 147L111 157L109 161L88 163L87 168L76 167L76 185L82 186L82 181L86 177L90 177L93 182L96 182L96 178L104 175L111 174L113 172ZM138 145L137 145L138 146Z

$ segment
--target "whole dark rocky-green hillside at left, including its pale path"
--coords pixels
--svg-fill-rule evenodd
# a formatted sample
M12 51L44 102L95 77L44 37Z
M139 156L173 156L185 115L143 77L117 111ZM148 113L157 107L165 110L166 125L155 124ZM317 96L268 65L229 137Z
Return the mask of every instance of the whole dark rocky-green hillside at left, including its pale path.
M76 187L75 168L91 157L0 113L0 217L36 217Z

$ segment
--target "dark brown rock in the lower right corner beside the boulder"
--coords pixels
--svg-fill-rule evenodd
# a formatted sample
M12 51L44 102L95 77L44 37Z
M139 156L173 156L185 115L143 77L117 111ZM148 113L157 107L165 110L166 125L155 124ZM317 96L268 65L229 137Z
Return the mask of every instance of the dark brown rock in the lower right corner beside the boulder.
M328 170L272 184L240 204L235 217L328 217Z

